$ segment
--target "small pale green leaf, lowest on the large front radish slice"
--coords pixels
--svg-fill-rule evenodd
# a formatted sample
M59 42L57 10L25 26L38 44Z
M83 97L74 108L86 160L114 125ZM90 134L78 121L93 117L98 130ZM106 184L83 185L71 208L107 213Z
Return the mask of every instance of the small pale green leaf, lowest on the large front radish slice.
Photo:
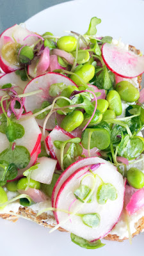
M98 213L83 214L81 217L83 223L90 228L97 228L100 223L100 215Z

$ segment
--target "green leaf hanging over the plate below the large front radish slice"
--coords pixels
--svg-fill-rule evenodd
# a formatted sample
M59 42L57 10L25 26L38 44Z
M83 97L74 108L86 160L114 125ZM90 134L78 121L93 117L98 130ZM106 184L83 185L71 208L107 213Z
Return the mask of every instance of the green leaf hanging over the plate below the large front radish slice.
M102 244L100 240L89 242L86 239L83 239L82 237L76 236L75 234L70 234L70 237L72 239L72 242L85 248L85 249L97 249L105 244Z

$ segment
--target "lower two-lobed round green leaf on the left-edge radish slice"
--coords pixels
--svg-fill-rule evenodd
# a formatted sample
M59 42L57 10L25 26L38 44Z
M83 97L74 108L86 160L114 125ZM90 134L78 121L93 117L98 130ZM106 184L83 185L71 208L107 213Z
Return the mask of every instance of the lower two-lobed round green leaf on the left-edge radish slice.
M6 148L0 154L0 160L13 163L18 169L28 166L31 156L27 148L23 146L16 146L14 150L12 148Z

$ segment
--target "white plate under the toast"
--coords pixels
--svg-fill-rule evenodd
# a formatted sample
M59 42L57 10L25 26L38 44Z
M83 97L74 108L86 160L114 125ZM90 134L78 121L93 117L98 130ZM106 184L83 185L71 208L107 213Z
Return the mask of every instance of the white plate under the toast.
M54 35L63 35L73 30L84 33L93 16L102 19L97 27L99 35L122 37L123 42L144 50L144 2L134 0L80 0L58 4L48 8L26 21L31 31L43 33L51 31ZM13 25L13 24L12 24ZM143 255L144 234L129 241L114 243L104 241L106 246L95 250L85 250L71 243L70 235L63 232L49 234L49 229L40 227L27 220L17 223L0 220L1 254L4 256L26 255Z

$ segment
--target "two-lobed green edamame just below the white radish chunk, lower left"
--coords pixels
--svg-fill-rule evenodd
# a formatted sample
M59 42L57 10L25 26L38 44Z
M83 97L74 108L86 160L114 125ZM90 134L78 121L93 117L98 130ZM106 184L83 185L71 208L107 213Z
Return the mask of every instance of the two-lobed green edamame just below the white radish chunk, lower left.
M24 190L24 189L26 189L27 186L28 186L27 178L22 178L17 182L17 190L19 190L19 189ZM30 179L29 188L40 189L40 182Z

